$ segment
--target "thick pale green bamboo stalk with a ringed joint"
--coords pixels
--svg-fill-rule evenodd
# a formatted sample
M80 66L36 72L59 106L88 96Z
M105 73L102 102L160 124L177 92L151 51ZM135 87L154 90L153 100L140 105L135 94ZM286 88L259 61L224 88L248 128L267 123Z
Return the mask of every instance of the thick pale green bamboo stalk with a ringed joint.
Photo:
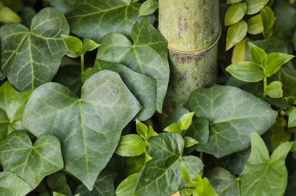
M170 82L164 110L185 106L190 93L216 81L219 0L158 0L159 31L169 48Z

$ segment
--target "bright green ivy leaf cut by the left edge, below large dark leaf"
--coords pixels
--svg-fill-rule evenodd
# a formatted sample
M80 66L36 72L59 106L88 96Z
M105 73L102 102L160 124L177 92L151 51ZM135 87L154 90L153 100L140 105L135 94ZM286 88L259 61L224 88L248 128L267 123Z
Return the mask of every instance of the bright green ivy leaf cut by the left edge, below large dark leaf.
M26 103L32 93L17 92L8 81L0 87L0 144L15 130L26 130L21 126Z

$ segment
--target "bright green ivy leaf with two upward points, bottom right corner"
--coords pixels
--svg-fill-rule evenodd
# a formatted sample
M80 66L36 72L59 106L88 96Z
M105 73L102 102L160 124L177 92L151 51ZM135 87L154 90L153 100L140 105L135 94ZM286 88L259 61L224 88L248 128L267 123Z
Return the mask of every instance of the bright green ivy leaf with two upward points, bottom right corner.
M242 196L284 195L288 172L285 159L293 142L285 142L269 158L268 150L258 133L252 133L252 153L241 178ZM256 179L256 180L255 180Z

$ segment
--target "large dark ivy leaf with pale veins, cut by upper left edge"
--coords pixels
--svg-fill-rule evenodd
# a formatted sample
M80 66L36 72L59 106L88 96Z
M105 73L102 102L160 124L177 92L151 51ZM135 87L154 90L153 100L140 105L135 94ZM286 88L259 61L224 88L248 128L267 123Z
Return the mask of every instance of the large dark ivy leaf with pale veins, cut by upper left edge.
M1 70L12 86L26 91L51 81L68 52L60 33L70 33L68 23L51 7L34 16L30 31L19 23L0 28Z

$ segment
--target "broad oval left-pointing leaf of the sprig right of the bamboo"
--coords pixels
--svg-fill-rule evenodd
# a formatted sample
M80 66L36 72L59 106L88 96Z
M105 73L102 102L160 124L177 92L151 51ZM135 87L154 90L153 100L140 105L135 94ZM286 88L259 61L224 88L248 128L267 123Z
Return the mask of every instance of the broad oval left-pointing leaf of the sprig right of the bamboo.
M235 78L245 82L258 82L264 78L262 67L255 65L253 62L241 61L226 67Z

